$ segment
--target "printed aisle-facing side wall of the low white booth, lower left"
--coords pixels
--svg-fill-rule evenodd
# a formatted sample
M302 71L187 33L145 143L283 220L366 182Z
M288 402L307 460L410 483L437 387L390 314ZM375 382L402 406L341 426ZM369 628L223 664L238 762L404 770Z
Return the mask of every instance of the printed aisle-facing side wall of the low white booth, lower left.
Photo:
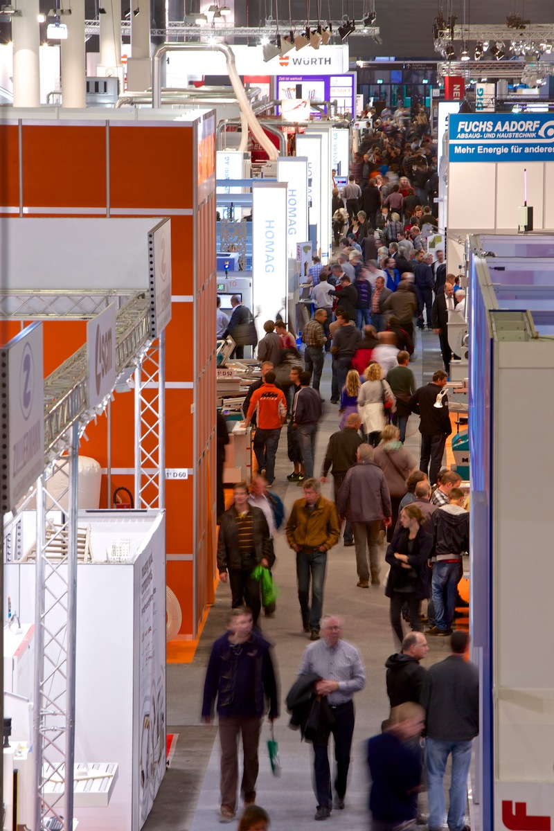
M140 826L145 822L165 772L165 563L163 525L137 563L140 580ZM160 539L161 538L161 539Z

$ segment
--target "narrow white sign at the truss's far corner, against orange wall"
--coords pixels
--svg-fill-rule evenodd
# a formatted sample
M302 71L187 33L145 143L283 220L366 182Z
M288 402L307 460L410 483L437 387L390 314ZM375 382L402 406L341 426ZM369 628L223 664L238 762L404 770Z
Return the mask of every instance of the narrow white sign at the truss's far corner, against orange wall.
M148 234L150 337L161 335L171 320L171 220Z

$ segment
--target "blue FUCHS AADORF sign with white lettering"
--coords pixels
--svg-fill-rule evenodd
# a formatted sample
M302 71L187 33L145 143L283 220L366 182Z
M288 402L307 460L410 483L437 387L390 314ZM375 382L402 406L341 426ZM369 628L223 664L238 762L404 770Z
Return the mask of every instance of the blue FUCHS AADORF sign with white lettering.
M449 117L449 161L552 161L552 113Z

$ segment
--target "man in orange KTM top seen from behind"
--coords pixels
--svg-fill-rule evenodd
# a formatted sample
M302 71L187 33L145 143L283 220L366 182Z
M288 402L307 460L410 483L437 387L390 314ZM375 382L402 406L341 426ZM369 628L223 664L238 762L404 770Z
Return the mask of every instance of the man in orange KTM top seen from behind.
M282 390L275 386L275 372L266 372L265 381L259 390L252 393L244 426L248 427L256 413L256 434L254 453L257 466L266 471L268 484L275 479L275 456L281 436L281 428L287 419L287 399Z

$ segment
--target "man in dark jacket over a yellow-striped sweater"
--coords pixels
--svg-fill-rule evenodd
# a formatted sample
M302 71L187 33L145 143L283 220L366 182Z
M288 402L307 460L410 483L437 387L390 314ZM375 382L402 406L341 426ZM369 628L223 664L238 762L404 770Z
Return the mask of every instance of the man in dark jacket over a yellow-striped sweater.
M275 561L267 519L259 508L248 504L248 487L238 482L233 488L233 505L223 514L218 537L218 572L222 583L231 586L233 609L252 609L254 626L262 607L260 584L252 571L261 563L271 568Z

